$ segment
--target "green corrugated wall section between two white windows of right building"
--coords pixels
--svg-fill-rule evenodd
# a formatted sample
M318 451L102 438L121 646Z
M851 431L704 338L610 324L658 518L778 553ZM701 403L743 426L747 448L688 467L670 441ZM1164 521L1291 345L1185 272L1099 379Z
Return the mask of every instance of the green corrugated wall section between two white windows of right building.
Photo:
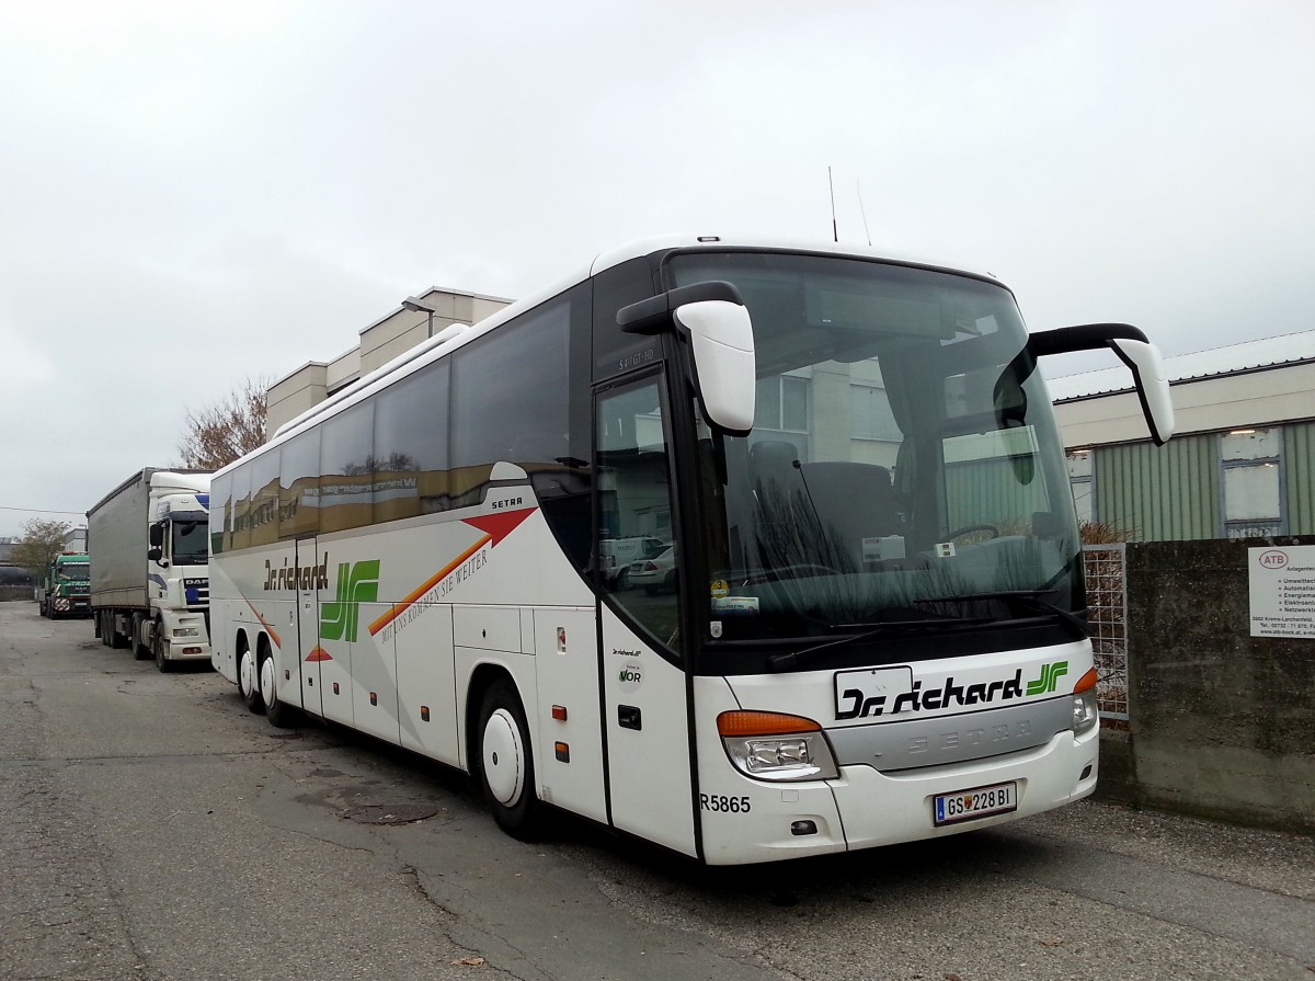
M1095 494L1097 517L1135 542L1218 538L1219 437L1097 447Z

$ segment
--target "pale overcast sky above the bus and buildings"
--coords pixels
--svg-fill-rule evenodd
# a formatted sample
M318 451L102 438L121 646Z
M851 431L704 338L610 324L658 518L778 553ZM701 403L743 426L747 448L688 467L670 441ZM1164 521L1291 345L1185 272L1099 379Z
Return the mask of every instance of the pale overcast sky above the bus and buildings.
M430 285L827 239L827 167L1034 330L1315 327L1307 1L0 0L0 535Z

